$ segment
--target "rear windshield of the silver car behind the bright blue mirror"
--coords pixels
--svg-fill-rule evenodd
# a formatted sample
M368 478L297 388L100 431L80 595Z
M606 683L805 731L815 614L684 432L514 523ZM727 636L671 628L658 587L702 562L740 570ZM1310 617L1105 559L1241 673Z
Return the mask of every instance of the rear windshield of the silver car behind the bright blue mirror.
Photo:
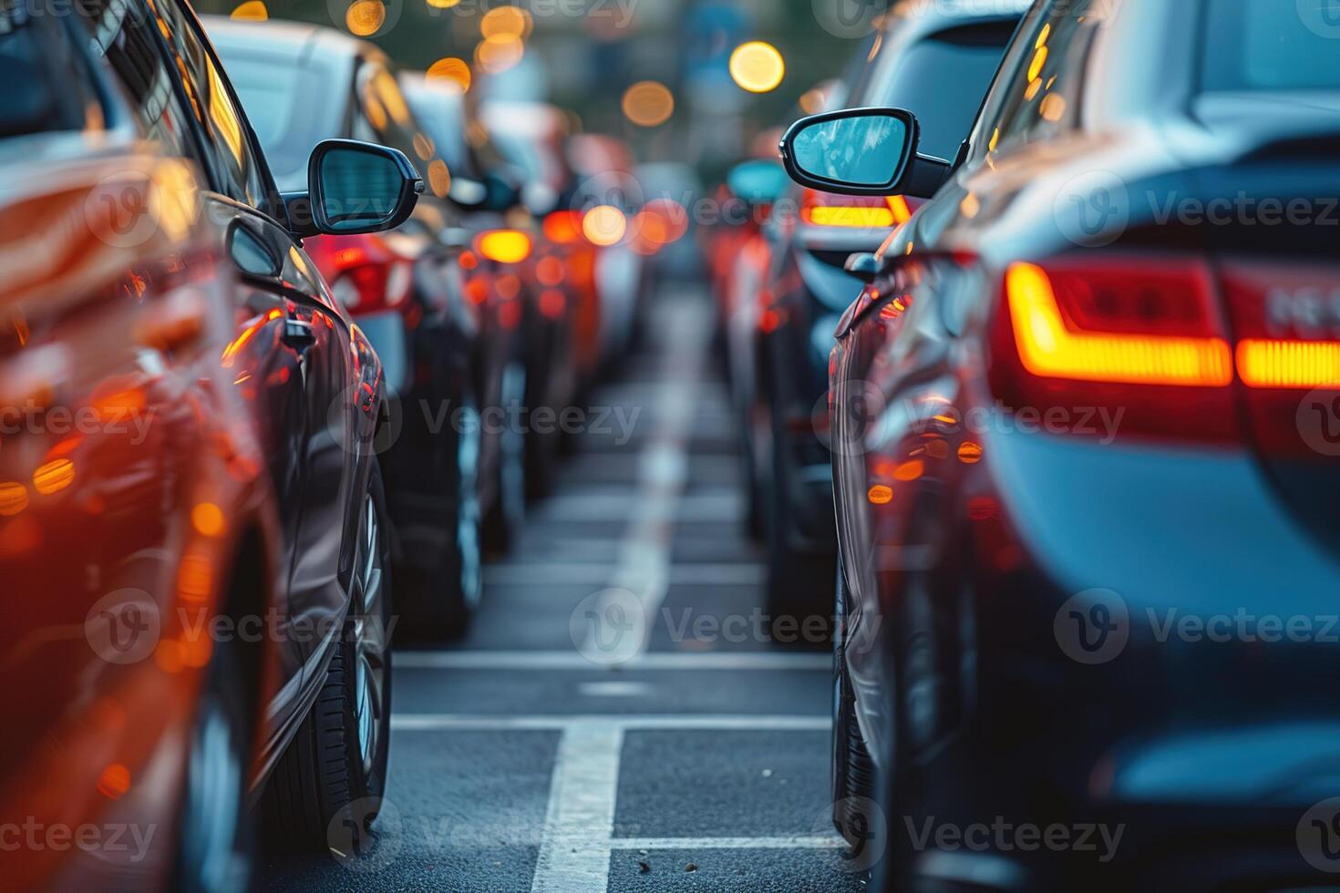
M918 151L953 158L972 130L1014 27L1013 21L969 25L926 37L867 80L850 104L911 111L921 125Z

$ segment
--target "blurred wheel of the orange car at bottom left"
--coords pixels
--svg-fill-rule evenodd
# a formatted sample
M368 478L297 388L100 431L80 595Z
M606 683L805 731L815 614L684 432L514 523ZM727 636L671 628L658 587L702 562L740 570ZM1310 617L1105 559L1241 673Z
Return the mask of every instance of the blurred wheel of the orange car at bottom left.
M247 889L255 839L247 818L251 698L236 643L214 645L186 758L172 889Z

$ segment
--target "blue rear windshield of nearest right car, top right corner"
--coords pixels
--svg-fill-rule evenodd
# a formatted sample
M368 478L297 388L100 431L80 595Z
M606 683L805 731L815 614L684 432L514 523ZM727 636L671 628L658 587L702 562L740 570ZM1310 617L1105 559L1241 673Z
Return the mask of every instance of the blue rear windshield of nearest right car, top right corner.
M1335 0L1207 0L1203 88L1340 90Z

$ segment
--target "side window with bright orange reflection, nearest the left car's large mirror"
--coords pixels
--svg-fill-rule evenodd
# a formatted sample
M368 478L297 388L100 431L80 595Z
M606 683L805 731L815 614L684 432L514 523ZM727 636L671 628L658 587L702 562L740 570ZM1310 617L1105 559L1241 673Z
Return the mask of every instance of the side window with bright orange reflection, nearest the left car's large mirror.
M245 118L233 103L213 58L186 20L177 0L149 0L158 29L177 56L190 112L206 137L205 151L221 191L252 208L267 205L265 179L247 135Z

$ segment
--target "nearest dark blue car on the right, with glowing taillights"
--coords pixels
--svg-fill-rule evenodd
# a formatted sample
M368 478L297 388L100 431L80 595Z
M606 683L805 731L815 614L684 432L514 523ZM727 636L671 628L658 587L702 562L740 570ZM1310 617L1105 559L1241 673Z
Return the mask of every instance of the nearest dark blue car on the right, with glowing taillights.
M852 261L831 359L835 799L890 817L888 889L1284 889L1333 853L1340 68L1300 9L1038 3L953 161L896 108L784 142L803 183L934 195ZM938 860L894 831L927 815L1124 837Z

